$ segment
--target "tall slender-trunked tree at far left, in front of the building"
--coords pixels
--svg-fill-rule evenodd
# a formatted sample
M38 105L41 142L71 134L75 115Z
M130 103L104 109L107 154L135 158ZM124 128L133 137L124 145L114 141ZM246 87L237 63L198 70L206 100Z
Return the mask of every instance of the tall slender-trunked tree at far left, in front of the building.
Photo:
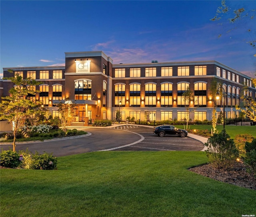
M14 77L4 78L9 79L14 83L14 87L10 89L10 96L3 97L0 103L0 120L8 120L13 127L13 151L15 152L16 134L18 130L24 126L26 118L30 116L32 110L38 105L29 99L26 99L28 94L35 95L36 92L32 86L39 85L40 83L28 79L22 79L18 74Z

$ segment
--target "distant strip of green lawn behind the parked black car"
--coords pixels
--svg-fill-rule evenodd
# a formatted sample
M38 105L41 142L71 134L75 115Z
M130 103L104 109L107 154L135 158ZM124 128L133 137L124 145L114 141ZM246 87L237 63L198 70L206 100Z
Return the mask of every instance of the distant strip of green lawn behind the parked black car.
M175 125L177 128L184 129L183 125ZM189 125L190 130L209 130L211 132L212 125ZM225 125L226 132L230 135L232 139L235 138L237 134L250 134L256 138L256 126L234 126ZM223 125L217 125L218 132L223 130Z

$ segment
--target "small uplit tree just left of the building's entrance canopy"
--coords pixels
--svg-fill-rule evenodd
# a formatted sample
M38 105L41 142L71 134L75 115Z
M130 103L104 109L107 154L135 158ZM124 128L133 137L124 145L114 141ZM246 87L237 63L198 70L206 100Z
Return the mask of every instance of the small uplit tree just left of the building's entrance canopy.
M61 126L62 126L62 130L64 132L66 132L67 128L66 126L68 126L70 124L70 122L72 121L72 118L74 116L74 112L75 112L75 104L72 103L72 101L69 101L66 99L65 103L59 103L58 104L58 111L60 112L60 121L61 121Z

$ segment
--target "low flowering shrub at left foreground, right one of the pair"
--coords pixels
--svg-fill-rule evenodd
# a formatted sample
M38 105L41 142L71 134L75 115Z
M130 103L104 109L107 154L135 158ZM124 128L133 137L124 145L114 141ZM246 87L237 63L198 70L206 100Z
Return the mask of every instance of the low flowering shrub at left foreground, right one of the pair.
M39 154L36 152L32 156L31 169L34 170L53 170L57 166L57 158L52 153L44 152Z

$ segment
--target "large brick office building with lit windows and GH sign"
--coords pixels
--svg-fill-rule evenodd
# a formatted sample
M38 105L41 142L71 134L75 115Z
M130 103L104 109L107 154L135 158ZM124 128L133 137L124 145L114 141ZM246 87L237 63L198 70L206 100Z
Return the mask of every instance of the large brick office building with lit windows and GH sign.
M42 82L31 100L42 101L58 116L59 101L76 104L74 121L115 119L116 112L135 120L211 120L216 105L217 115L225 105L226 118L239 116L236 105L250 107L256 98L251 77L217 61L113 64L102 51L67 52L65 66L3 68L4 77L12 69L24 78ZM2 80L2 95L9 94L13 83ZM182 94L189 87L194 100L185 102ZM224 94L216 101L215 94ZM224 91L223 91L224 90Z

